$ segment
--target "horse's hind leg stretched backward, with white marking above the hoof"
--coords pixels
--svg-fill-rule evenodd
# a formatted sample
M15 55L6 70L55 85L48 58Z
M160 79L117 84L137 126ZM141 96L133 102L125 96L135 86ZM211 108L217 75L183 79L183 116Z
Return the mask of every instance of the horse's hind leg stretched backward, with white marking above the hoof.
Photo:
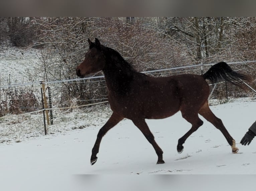
M228 130L225 128L222 120L213 114L213 112L209 108L208 101L206 101L203 107L199 110L199 114L202 115L206 120L211 122L217 129L222 132L222 134L227 139L229 145L231 146L232 152L237 153L239 149L236 147L236 141L232 138Z

